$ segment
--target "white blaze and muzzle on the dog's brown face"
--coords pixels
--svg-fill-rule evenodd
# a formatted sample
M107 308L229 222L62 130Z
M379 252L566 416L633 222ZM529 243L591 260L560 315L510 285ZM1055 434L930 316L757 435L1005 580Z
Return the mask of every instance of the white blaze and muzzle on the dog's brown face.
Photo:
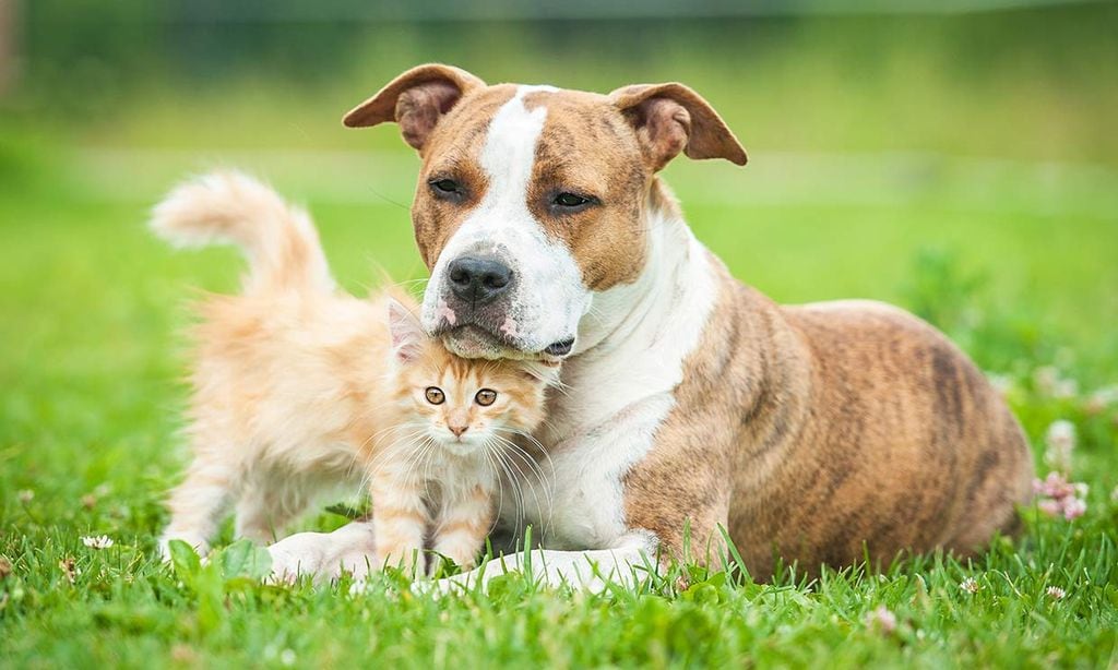
M444 180L456 189L484 189L439 252L424 299L424 326L433 333L449 329L448 344L465 355L485 355L493 338L528 354L569 347L566 343L575 341L578 322L590 306L590 291L571 249L550 236L546 222L530 210L536 149L548 116L547 107L529 109L524 104L536 90L553 89L521 86L490 121L477 166L471 171L480 173L484 186L466 182L452 152L432 156L423 180L429 192L417 194L417 200L457 200L459 194L447 193ZM455 274L463 264L468 271L471 259L493 264L490 267L498 274L508 272L496 277L496 284L506 284L494 291L494 275L485 274L485 265L477 266L481 277ZM474 329L455 333L455 327L465 325L482 331L483 337L476 337Z

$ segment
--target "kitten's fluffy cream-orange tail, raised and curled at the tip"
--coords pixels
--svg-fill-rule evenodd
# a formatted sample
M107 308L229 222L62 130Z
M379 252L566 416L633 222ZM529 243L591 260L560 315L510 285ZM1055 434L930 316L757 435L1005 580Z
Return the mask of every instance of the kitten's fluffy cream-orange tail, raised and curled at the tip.
M240 172L214 172L179 185L155 207L151 228L177 247L240 247L249 264L246 293L334 289L306 212Z

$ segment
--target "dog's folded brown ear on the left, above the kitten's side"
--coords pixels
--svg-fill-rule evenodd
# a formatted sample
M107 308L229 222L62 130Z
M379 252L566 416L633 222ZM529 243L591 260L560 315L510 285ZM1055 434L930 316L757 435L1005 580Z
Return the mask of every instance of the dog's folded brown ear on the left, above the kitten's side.
M421 150L438 119L462 96L483 86L484 82L466 70L449 65L420 65L350 109L342 123L351 128L363 128L395 121L400 124L404 141Z

